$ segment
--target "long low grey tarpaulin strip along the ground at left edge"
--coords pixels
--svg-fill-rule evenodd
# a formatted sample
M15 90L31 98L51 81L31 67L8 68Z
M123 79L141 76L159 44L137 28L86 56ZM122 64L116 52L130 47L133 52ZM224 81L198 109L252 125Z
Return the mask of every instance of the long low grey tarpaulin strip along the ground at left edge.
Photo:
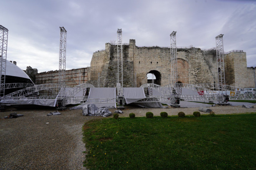
M41 106L56 106L56 99L19 99L19 100L1 100L1 103L19 104L19 105L41 105Z

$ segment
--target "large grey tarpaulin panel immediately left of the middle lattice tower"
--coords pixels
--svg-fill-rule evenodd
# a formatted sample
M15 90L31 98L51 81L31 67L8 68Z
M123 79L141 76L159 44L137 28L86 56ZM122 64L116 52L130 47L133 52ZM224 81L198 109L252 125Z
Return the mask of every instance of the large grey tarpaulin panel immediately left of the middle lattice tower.
M93 87L86 103L94 103L98 108L116 108L116 88Z

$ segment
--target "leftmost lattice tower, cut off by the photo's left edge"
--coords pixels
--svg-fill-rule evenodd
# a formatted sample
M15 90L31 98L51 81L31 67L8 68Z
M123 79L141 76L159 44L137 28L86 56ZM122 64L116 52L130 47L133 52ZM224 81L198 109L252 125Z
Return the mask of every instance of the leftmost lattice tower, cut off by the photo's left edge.
M5 72L6 72L6 55L7 55L8 29L0 25L0 60L1 60L1 83L0 96L5 95Z

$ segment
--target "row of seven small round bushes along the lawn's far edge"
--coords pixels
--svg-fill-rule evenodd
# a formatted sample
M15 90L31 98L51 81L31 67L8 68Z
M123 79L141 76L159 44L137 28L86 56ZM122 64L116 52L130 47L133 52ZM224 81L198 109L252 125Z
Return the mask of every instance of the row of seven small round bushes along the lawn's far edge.
M194 115L195 117L201 116L201 114L200 114L199 111L194 111L194 112L193 112L193 115ZM210 115L210 116L215 116L215 113L214 113L213 111L211 111L209 115ZM147 112L147 113L146 113L146 118L153 118L153 116L154 116L154 114L153 114L152 112ZM167 118L167 117L168 117L168 113L166 113L165 111L164 111L164 112L161 112L161 113L160 113L160 116L161 116L162 118ZM185 117L185 113L184 113L183 111L180 111L180 112L178 113L178 116L179 116L179 117ZM119 117L119 114L114 114L114 118L115 118L115 119L117 119L118 117ZM130 118L135 118L135 114L134 114L134 113L130 113L130 114L129 114L129 117L130 117Z

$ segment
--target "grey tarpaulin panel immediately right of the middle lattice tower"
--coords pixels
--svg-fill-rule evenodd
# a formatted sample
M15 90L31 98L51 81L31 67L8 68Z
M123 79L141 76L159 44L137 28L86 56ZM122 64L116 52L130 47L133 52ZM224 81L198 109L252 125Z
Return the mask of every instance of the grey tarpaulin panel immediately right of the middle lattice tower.
M123 95L127 105L146 98L142 87L124 87L123 89Z

